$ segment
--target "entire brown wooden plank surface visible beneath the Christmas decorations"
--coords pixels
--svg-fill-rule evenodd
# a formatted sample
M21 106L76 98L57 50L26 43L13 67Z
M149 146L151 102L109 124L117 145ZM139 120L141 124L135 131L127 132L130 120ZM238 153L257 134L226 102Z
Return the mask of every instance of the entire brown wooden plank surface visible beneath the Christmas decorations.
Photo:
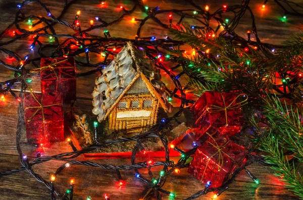
M58 16L63 8L62 0L44 0L42 1L51 10L54 16ZM187 5L186 1L151 1L144 0L144 4L148 5L150 8L159 6L160 9L185 9L191 8ZM198 1L196 1L198 2ZM296 0L296 3L302 4L302 1ZM15 18L15 13L17 11L17 4L20 1L7 1L0 0L0 31L3 31ZM124 5L126 9L130 10L132 8L132 3L130 1L107 1L106 6L101 6L98 4L97 0L90 1L76 1L76 3L70 7L67 14L63 16L63 20L72 23L75 18L75 13L77 10L81 10L81 26L82 28L89 27L89 20L94 19L95 16L99 16L103 20L110 22L117 19L121 12L118 9L120 5ZM240 4L240 0L218 0L218 1L199 1L199 5L204 7L206 4L210 6L210 12L216 11L223 4L234 5ZM302 18L298 17L288 17L287 22L281 22L279 18L284 15L283 11L278 8L273 1L269 1L267 7L264 11L260 10L262 6L262 1L251 1L250 7L252 11L255 12L257 28L259 36L263 42L269 42L273 44L281 44L282 41L288 39L293 33L297 33L302 28ZM46 12L42 10L36 4L30 4L24 9L25 15L46 15ZM132 17L143 18L146 14L141 13L136 10L131 16L126 17L118 25L107 27L112 35L112 37L124 37L124 38L134 38L136 30L138 27L138 22L131 22ZM228 16L227 16L228 17ZM168 21L167 15L159 16L160 19ZM178 19L173 20L175 23ZM168 22L166 22L168 23ZM190 25L192 21L187 21L186 23ZM245 14L241 20L237 31L241 36L245 37L246 30L251 29L251 20L248 14ZM23 27L28 25L24 23ZM58 34L65 34L70 32L66 27L61 25L55 26ZM14 29L11 29L14 30ZM93 30L91 34L103 35L103 30ZM141 37L154 35L157 38L163 38L167 35L167 30L157 26L152 21L143 27ZM252 37L253 38L253 37ZM7 41L11 39L8 33L2 41ZM40 38L42 39L42 38ZM43 40L43 39L42 39ZM44 41L48 39L45 38ZM28 54L30 58L37 57L35 51L29 51L28 47L32 43L31 38L24 38L18 40L6 48L16 51L21 56ZM10 64L16 64L14 60L8 60L3 54L0 55L1 59L7 61ZM102 59L99 55L91 55L92 62ZM77 56L76 59L83 60L85 58ZM4 66L0 66L1 74L0 81L5 81L13 78L14 74L7 70ZM83 68L77 66L77 72L85 72L90 70L88 68ZM176 72L177 74L177 72ZM77 79L77 106L84 111L91 111L91 92L94 86L94 80L98 74L93 74L86 77L80 77ZM167 83L167 86L173 87L169 83L167 76L163 74L163 79ZM182 78L181 81L185 82ZM30 85L35 91L40 90L39 77L36 77L34 82ZM18 87L16 88L18 89ZM177 102L174 102L176 105ZM15 168L19 168L21 165L19 163L19 157L16 151L16 126L17 126L17 102L10 96L7 95L5 100L0 100L0 171L7 171ZM23 132L22 141L26 141L25 133ZM66 142L56 143L51 148L40 148L37 149L31 146L22 146L22 150L29 156L29 160L33 160L37 151L40 151L43 156L52 156L55 154L70 152L72 151L70 146ZM79 160L82 157L78 158ZM176 160L177 158L175 158ZM115 165L130 164L130 160L98 160L99 163L109 163ZM60 161L51 161L34 166L34 170L41 174L41 176L47 180L51 174L53 174L56 169L64 164ZM256 185L244 171L236 178L236 180L230 185L230 188L222 193L218 199L297 199L295 195L286 190L283 187L283 183L279 179L273 176L273 171L269 167L264 167L259 164L254 164L248 167L248 169L254 173L259 179L261 184ZM159 174L160 169L155 172L155 175ZM144 172L146 173L146 172ZM88 167L73 166L68 168L61 173L56 180L56 187L58 187L61 192L68 188L69 179L71 177L75 178L75 198L74 199L86 199L87 196L91 196L92 199L104 199L103 194L108 193L113 200L117 199L138 199L140 197L140 192L143 190L142 184L139 180L134 178L134 173L122 172L123 178L125 178L126 186L119 188L117 186L117 176L115 173L110 173L108 171L93 169ZM202 189L204 186L199 181L193 177L188 176L185 169L181 170L180 174L173 174L165 184L165 189L175 192L175 199L184 199L198 190ZM207 194L201 196L197 199L210 199L213 194ZM32 178L27 172L16 173L11 176L5 176L0 178L0 199L48 199L49 191L44 187L43 184L37 182ZM168 199L168 197L164 197Z

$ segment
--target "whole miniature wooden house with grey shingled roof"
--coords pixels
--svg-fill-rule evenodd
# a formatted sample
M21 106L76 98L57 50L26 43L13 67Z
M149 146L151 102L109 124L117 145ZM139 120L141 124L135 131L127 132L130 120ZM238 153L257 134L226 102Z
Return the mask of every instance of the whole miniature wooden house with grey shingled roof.
M128 42L97 77L92 112L98 121L109 119L109 128L142 131L157 122L159 107L172 110L160 70L145 52Z

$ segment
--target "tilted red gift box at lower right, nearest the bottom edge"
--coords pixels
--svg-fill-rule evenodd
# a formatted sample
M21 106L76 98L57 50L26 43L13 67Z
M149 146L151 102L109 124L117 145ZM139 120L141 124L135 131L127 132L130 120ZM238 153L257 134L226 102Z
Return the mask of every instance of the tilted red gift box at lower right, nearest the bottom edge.
M236 168L244 166L247 151L222 134L216 139L209 136L195 152L188 172L204 184L211 181L211 187L220 187Z

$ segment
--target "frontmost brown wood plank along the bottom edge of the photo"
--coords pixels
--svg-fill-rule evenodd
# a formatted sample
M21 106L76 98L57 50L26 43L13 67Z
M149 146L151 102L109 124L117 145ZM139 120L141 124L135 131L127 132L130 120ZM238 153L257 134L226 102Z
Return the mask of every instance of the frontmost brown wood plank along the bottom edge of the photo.
M67 145L67 144L66 144ZM32 158L29 158L32 160ZM81 157L79 157L81 160ZM177 161L177 158L173 158ZM10 163L8 165L8 162ZM97 163L107 163L112 165L130 164L129 159L117 160L97 160ZM62 161L50 161L34 166L34 170L44 179L48 180L56 169L63 165ZM19 157L13 155L0 154L0 169L6 171L20 167ZM154 175L157 177L161 168L153 168ZM230 185L230 188L221 194L220 199L298 199L288 192L277 178L271 175L272 171L268 167L254 164L249 170L260 179L261 184L256 185L244 171ZM81 173L80 173L81 172ZM140 170L142 175L148 177L147 171ZM102 195L108 193L113 199L138 199L143 189L142 184L134 177L133 171L123 171L122 176L126 182L125 187L117 186L118 179L115 173L105 170L94 169L83 166L71 166L65 169L56 178L56 188L61 192L68 188L68 182L71 177L75 178L75 199L85 199L90 195L93 199L103 199ZM189 176L186 169L181 169L180 174L173 173L165 184L165 189L175 192L175 199L184 199L203 188L203 184L195 178ZM22 196L22 199L42 199L48 198L49 191L38 183L27 172L19 172L14 175L1 177L0 193L2 196L10 196L14 199ZM197 199L208 199L212 196L209 193ZM0 198L1 199L1 198ZM4 198L6 199L6 198ZM166 199L166 197L164 198Z

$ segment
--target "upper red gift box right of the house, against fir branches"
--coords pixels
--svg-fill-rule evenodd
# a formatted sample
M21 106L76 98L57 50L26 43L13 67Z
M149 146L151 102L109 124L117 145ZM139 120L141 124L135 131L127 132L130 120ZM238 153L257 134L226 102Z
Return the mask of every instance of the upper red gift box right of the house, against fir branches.
M241 101L239 98L244 97ZM195 120L197 138L206 131L213 134L218 130L221 134L233 136L244 125L241 105L245 104L247 95L236 93L205 92L193 104L192 112ZM210 128L212 127L212 131Z

